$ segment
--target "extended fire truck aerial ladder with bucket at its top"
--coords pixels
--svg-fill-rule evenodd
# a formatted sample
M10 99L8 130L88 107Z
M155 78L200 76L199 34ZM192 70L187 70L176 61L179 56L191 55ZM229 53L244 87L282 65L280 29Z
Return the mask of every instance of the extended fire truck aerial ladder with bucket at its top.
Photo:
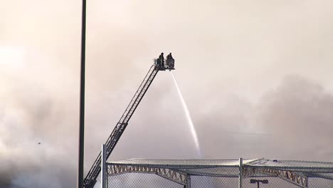
M105 142L107 158L110 157L112 150L115 149L115 145L117 145L117 142L120 140L120 137L125 131L129 120L131 119L134 111L137 109L137 106L144 97L144 94L147 92L149 86L152 84L152 81L154 80L157 73L159 71L166 70L174 70L174 58L168 58L165 61L163 58L154 59L154 64L150 67L147 75L144 77L144 80L142 80L141 85L137 89L137 92L135 93L129 105L127 105L125 112L122 114L122 117L120 117L119 122L117 122L115 125L115 128L113 129L110 137L107 138L107 141ZM100 152L83 181L83 187L93 188L95 186L97 182L96 179L101 171L101 160L102 153Z

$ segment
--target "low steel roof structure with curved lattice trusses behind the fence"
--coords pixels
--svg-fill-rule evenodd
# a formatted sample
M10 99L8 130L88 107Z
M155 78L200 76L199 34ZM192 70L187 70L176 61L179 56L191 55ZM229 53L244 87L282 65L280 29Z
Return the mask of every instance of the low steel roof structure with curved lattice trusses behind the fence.
M333 180L333 162L297 160L205 160L205 159L128 159L109 162L106 174L126 172L154 173L173 182L191 187L191 177L238 177L238 187L243 187L243 177L276 177L297 187L307 188L312 178ZM182 176L181 176L182 174ZM187 180L186 180L187 179ZM313 186L313 185L312 185Z

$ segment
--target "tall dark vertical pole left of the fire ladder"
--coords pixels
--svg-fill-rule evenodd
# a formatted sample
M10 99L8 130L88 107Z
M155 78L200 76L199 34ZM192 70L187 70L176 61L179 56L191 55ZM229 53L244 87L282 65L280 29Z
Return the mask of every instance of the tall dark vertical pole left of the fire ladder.
M81 79L80 79L80 128L78 152L78 188L83 188L83 160L85 149L85 9L86 0L82 1L81 33Z

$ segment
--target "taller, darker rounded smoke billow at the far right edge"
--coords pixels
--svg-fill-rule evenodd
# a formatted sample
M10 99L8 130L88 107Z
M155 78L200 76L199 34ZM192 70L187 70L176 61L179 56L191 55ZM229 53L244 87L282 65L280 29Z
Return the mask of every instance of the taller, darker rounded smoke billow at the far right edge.
M280 157L332 160L333 95L305 78L289 76L258 106L258 124Z

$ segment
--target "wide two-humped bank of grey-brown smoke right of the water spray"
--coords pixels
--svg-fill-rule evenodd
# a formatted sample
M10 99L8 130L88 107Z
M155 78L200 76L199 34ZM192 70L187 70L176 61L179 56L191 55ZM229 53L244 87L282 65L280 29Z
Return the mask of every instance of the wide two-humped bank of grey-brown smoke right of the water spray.
M319 83L290 75L258 103L235 95L211 98L211 103L195 120L206 157L332 157L333 95ZM219 136L211 136L215 132Z

